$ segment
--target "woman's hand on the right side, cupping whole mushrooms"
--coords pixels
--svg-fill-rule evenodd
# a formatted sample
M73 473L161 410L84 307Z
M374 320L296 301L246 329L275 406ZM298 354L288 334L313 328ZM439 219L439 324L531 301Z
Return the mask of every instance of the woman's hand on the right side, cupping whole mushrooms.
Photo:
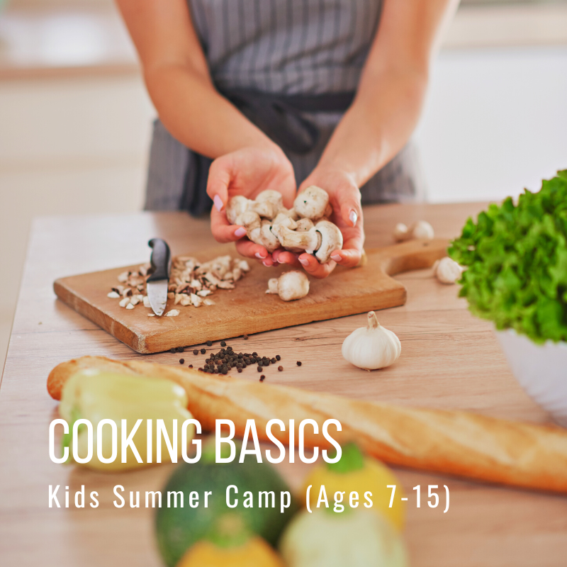
M329 193L332 206L332 220L342 232L341 250L331 254L330 262L320 264L312 254L293 254L283 249L276 250L272 256L281 264L300 262L303 269L315 278L326 278L337 264L352 268L361 260L364 247L364 222L360 204L360 189L352 176L339 169L317 167L299 188L299 193L310 185L316 185Z

